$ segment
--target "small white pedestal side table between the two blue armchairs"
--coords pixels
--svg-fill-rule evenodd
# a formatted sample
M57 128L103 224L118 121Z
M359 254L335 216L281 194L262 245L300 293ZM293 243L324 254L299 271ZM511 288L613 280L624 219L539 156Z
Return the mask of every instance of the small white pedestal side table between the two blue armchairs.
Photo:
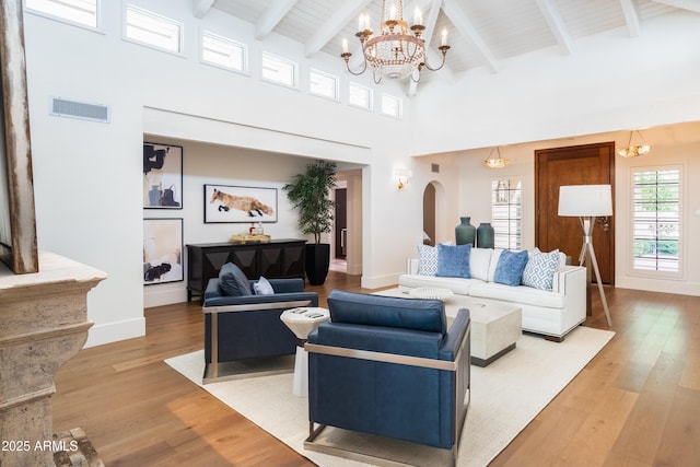
M304 343L306 343L308 332L330 319L330 312L326 308L304 306L285 310L280 315L280 319L296 336L292 394L306 397L308 396L308 353L304 350Z

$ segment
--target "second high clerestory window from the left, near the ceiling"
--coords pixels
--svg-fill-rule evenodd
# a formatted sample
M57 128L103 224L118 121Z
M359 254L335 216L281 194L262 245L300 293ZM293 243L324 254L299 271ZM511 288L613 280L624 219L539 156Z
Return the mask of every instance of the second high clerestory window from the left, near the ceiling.
M125 37L175 54L183 50L182 23L132 4L127 4Z

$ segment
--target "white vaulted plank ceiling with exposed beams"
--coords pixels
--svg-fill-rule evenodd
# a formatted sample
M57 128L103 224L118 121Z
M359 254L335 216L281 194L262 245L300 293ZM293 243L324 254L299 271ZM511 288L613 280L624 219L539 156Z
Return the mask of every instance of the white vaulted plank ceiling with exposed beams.
M359 55L359 15L369 13L376 31L382 10L382 0L194 1L198 16L219 9L253 23L258 39L275 32L302 43L308 57L318 51L339 57L343 38ZM548 47L572 55L576 40L612 30L638 37L644 22L679 11L700 15L700 0L407 0L409 24L417 7L430 38L429 65L440 57L446 28L452 47L446 68L456 74L481 67L498 72L501 60Z

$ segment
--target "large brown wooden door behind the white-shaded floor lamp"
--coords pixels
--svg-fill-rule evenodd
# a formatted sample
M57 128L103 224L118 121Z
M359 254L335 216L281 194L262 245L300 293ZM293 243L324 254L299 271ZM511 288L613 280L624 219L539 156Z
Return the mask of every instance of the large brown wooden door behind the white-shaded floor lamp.
M535 151L535 245L542 252L555 248L579 264L583 232L576 218L558 215L562 185L611 185L615 194L615 142ZM615 212L615 198L612 199ZM600 222L603 219L599 220ZM615 219L607 229L597 222L593 246L603 283L615 282Z

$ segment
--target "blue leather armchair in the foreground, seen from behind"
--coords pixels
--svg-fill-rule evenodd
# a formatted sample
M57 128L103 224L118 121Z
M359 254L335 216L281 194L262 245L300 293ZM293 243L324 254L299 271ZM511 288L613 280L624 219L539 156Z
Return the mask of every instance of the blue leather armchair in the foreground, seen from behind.
M305 346L305 447L348 456L342 447L314 442L329 425L451 450L456 462L469 405L468 310L447 330L436 300L332 291L328 308L330 322Z

